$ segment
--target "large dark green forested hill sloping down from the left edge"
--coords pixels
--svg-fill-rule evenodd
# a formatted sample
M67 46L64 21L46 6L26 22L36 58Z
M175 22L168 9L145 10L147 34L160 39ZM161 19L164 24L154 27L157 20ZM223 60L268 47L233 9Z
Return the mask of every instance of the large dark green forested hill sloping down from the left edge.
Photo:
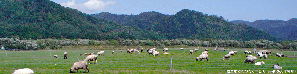
M70 39L151 39L163 35L94 18L50 0L0 0L0 37Z

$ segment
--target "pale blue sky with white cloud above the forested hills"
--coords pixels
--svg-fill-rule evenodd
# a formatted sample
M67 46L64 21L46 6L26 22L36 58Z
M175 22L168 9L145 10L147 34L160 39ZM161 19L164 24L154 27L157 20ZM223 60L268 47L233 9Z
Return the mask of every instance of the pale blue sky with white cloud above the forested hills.
M289 20L297 18L297 0L51 0L86 14L134 14L156 11L174 15L190 9L225 20Z

